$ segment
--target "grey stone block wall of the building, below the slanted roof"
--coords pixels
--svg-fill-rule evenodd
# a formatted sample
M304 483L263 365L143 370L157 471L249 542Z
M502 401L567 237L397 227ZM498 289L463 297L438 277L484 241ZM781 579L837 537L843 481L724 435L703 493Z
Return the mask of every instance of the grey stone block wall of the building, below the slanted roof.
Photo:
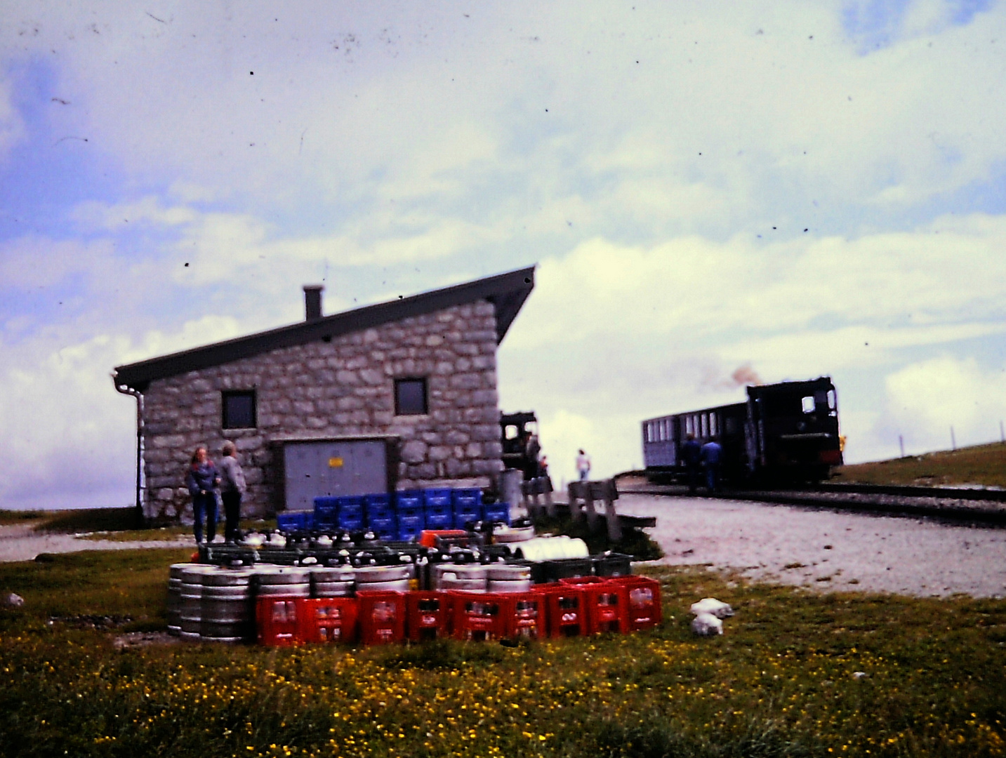
M192 450L206 445L217 459L224 439L247 480L244 515L271 511L272 443L283 439L393 435L399 489L487 487L503 468L496 348L495 310L479 302L151 382L145 511L190 517ZM413 377L427 377L430 412L396 416L394 379ZM221 392L249 389L258 427L224 430Z

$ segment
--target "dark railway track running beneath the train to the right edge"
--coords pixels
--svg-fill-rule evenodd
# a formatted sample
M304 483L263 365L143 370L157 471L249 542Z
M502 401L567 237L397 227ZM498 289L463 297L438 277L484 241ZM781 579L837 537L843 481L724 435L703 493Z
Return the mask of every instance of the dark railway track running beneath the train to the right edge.
M712 496L700 489L696 496L689 496L687 487L653 485L646 482L641 471L620 475L616 481L622 494L711 497L1006 526L1006 491L1003 490L826 483L799 489L724 490Z

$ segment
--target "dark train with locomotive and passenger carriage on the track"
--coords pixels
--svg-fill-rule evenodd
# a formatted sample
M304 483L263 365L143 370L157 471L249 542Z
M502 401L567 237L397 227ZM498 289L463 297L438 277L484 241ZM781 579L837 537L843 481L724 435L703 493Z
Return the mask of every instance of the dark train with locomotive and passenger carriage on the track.
M651 480L683 481L688 434L722 446L721 476L734 486L819 482L842 462L838 398L831 377L747 387L746 402L643 421L643 460Z

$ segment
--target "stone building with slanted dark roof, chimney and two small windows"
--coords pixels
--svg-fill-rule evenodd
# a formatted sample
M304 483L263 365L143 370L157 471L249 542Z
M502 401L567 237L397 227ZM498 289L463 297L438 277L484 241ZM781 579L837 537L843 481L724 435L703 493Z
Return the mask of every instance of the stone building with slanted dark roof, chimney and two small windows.
M225 439L247 515L287 507L283 450L312 440L383 440L389 491L496 484L496 349L533 279L524 268L333 316L305 287L300 324L119 366L116 389L137 398L138 507L188 516L192 451L216 457Z

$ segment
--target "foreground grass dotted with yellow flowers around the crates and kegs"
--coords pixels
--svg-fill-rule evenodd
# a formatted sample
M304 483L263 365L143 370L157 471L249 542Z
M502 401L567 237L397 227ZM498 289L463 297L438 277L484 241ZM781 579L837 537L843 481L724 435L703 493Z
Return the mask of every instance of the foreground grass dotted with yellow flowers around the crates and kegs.
M0 564L0 592L26 600L0 610L0 754L662 758L1006 750L1004 600L819 595L670 568L658 575L663 626L629 635L516 646L116 650L122 631L163 626L167 567L188 552ZM687 607L707 595L737 614L723 636L696 638ZM75 622L89 614L113 617L112 628Z

